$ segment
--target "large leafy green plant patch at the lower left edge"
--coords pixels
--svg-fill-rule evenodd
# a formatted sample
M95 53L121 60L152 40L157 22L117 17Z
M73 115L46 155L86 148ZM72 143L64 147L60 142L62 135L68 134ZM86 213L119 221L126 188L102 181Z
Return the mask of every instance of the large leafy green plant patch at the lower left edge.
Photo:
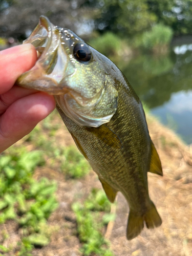
M25 147L10 148L9 154L5 152L0 158L0 224L13 219L22 228L20 256L31 255L34 246L49 243L50 234L44 226L58 205L54 195L57 185L47 178L36 181L32 177L34 169L44 164L41 151L27 152ZM8 250L0 248L4 253Z

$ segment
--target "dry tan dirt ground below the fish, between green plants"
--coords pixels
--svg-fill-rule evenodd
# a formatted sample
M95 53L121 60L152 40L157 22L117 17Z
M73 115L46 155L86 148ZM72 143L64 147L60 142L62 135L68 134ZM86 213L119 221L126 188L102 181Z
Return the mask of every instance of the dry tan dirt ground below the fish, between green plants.
M58 143L74 144L62 121L55 136ZM147 229L140 236L127 241L125 230L129 207L118 193L117 204L111 211L116 213L114 222L106 227L104 236L111 241L116 256L190 256L192 255L192 146L186 146L172 131L162 126L154 117L147 115L151 138L157 148L163 166L163 177L148 174L150 197L162 218L162 225ZM92 187L101 188L97 175L91 171L78 181L65 180L57 167L40 167L35 178L46 176L58 182L58 209L49 218L54 227L51 242L44 248L34 249L35 256L78 256L81 244L77 237L75 215L71 209L74 201L86 198ZM80 195L80 196L79 196ZM17 240L16 226L9 221L4 228L12 241ZM16 231L19 232L19 231ZM8 241L7 241L8 243ZM5 246L5 245L4 245ZM93 255L92 255L93 256Z

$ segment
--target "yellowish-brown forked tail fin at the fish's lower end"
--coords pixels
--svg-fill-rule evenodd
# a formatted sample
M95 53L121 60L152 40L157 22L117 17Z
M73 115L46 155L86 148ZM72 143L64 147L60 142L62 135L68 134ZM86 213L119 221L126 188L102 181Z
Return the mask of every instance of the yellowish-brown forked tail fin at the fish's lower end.
M153 202L151 202L151 209L144 216L137 216L134 211L130 210L126 229L128 240L132 240L140 234L144 227L143 221L145 221L147 228L154 228L161 225L161 218Z

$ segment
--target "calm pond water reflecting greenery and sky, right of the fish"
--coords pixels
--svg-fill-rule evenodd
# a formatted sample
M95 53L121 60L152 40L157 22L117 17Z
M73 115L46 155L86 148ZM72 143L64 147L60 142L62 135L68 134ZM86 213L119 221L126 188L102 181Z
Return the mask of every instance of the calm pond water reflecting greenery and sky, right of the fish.
M167 55L140 55L119 65L152 114L192 143L192 44Z

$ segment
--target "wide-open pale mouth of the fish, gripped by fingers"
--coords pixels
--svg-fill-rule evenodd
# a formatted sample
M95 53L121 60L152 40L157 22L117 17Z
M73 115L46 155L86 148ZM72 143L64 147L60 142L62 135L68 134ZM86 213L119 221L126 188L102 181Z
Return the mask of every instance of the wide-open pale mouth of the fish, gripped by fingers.
M67 70L69 57L61 40L61 29L41 16L39 23L24 44L32 44L37 51L35 66L17 79L17 84L49 94L65 94L65 77L75 69Z

